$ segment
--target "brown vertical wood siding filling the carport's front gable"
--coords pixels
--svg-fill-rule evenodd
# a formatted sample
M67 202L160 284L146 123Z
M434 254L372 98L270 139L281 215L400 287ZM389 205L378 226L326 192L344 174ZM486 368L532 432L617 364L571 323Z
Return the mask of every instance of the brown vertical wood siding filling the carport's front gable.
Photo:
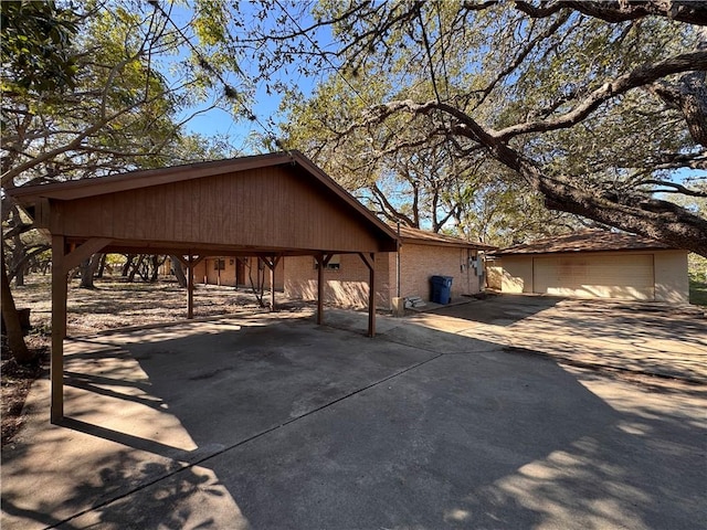
M52 201L67 237L380 252L374 231L296 167L273 166L71 201Z

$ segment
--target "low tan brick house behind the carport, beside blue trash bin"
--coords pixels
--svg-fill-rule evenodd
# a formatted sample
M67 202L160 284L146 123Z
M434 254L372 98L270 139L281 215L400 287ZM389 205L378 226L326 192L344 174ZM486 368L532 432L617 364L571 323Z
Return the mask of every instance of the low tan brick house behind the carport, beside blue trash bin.
M393 298L429 301L430 278L435 275L452 278L452 299L484 290L483 253L495 247L403 226L400 243L398 253L376 262L378 308L392 309ZM284 277L286 297L316 298L317 263L312 257L285 258ZM324 269L325 301L344 307L366 306L367 277L367 269L356 256L335 255Z

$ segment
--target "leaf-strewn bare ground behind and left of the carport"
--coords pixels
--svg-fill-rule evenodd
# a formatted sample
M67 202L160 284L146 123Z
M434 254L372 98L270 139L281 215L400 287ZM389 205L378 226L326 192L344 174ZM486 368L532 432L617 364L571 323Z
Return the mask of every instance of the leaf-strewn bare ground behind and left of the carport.
M120 277L96 279L95 289L78 288L78 280L68 287L67 335L93 335L98 331L168 324L187 318L187 292L176 282L155 284L128 283ZM2 445L12 441L23 424L22 407L32 382L49 369L51 346L51 276L29 276L25 286L13 288L18 308L30 308L32 330L28 347L36 354L36 362L19 365L7 354L2 344L0 363ZM285 306L293 309L292 305ZM266 311L251 289L197 286L194 318L217 317L234 312Z

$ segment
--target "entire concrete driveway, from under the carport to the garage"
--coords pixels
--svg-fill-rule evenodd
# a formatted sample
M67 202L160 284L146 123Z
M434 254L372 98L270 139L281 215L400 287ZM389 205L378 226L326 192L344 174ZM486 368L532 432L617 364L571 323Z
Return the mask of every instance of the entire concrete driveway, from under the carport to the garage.
M2 454L2 529L704 527L706 321L605 307L475 300L380 317L376 339L330 309L68 340L70 418L49 425L39 381Z

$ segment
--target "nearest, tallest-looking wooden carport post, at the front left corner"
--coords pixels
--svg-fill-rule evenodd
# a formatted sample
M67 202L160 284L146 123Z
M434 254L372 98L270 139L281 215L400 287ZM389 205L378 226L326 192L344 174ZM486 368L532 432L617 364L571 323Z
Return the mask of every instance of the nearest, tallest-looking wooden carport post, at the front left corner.
M63 235L52 236L52 357L51 422L56 424L64 417L64 337L66 337L66 275L65 243Z

